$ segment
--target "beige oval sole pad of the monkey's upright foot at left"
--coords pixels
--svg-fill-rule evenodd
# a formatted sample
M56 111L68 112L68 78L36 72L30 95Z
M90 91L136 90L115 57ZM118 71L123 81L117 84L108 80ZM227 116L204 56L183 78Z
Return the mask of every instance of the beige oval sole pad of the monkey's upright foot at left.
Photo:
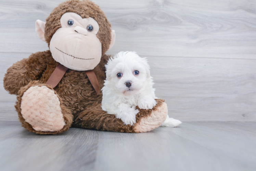
M21 114L36 131L59 131L65 125L59 98L46 86L30 87L24 93Z

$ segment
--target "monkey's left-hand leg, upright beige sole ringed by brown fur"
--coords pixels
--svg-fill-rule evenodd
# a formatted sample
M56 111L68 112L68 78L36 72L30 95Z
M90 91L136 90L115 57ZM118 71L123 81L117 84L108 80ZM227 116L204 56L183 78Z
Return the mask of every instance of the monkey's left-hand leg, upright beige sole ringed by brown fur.
M47 84L32 81L22 87L15 105L22 126L38 134L57 134L71 127L73 115Z

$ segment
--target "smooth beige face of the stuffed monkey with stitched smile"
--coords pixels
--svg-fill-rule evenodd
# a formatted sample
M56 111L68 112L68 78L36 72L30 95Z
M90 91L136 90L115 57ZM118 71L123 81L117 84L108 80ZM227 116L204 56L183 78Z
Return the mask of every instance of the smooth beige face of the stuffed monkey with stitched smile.
M68 26L69 19L74 21ZM101 41L97 37L99 25L92 17L82 18L76 13L65 13L61 17L61 28L52 36L50 50L55 61L78 71L94 69L101 59ZM87 26L93 27L87 31Z

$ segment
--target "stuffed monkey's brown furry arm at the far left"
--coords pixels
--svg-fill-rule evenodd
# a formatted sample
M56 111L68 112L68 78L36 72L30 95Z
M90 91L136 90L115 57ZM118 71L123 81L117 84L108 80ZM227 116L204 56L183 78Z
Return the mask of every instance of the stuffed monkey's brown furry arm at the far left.
M16 62L7 69L4 75L3 86L10 94L18 94L21 87L33 80L38 80L51 59L50 51L37 52L28 58Z

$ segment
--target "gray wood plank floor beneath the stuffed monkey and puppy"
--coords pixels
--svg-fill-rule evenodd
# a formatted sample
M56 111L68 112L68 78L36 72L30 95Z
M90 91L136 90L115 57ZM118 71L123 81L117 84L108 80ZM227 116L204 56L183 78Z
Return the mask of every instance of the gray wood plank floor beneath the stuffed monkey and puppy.
M0 168L12 170L256 170L256 122L185 122L148 133L71 128L36 135L0 121Z

